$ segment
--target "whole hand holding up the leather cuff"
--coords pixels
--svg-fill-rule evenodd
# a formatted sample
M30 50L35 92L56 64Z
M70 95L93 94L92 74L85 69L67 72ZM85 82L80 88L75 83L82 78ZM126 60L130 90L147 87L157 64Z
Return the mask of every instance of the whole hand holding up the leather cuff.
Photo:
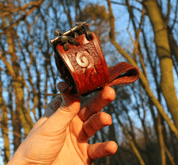
M60 91L65 87L63 82L58 84ZM76 96L55 97L8 164L90 165L94 159L114 154L114 141L88 144L98 130L112 124L111 116L100 111L114 98L110 87L81 106Z

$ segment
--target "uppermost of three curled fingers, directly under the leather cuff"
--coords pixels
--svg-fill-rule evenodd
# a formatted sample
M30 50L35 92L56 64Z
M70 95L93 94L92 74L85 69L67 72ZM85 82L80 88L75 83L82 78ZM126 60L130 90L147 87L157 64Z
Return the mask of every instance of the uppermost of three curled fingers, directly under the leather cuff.
M115 91L111 87L104 87L89 103L82 105L78 116L82 121L86 121L93 114L100 112L107 104L115 99Z

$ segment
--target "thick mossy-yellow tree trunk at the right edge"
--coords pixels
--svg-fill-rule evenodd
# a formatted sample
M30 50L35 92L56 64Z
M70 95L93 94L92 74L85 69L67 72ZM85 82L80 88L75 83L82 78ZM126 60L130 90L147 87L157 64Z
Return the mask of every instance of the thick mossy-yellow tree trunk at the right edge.
M144 1L154 30L157 55L160 60L161 89L174 123L178 128L178 100L174 87L173 63L169 46L167 25L156 0Z

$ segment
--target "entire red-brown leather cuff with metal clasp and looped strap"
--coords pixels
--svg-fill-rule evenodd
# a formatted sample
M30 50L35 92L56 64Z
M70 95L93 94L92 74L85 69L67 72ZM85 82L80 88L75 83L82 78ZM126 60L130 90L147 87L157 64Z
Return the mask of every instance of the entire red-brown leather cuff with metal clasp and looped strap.
M89 30L86 22L76 25L63 34L56 30L56 37L50 40L56 66L68 84L63 93L85 96L106 85L128 84L138 79L138 69L125 62L108 70L95 33Z

